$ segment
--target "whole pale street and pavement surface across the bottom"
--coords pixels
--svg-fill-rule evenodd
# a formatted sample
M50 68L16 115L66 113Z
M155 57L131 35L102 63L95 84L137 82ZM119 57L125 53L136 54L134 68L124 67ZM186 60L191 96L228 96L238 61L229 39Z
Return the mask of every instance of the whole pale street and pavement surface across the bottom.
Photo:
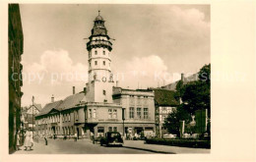
M15 154L152 154L152 153L210 153L211 149L188 148L167 146L158 144L145 144L143 140L124 140L123 147L106 147L99 144L93 144L90 139L48 139L48 145L45 145L43 139L34 142L32 150L16 151Z

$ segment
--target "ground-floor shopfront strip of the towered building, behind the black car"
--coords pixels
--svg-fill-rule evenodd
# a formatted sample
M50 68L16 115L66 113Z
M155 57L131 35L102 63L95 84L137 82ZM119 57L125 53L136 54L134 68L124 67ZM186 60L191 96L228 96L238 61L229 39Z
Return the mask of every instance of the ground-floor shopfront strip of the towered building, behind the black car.
M155 136L154 123L86 123L73 126L60 127L58 125L41 125L36 129L36 134L43 136L63 137L77 136L78 138L90 138L92 136L104 136L107 132L118 132L125 138Z

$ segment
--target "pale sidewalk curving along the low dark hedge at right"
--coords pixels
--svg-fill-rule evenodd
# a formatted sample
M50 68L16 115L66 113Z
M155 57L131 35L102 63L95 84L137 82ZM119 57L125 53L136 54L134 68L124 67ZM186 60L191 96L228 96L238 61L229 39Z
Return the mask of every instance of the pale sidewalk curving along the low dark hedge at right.
M189 148L169 145L147 144L144 140L124 140L124 147L142 149L157 153L181 154L181 153L211 153L211 149Z

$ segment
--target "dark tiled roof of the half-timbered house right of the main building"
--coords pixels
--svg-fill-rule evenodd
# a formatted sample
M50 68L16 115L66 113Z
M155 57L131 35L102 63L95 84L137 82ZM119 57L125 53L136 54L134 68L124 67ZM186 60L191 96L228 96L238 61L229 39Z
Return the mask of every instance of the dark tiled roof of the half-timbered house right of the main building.
M174 91L167 89L156 88L155 91L155 102L159 106L177 106L178 100L174 98Z

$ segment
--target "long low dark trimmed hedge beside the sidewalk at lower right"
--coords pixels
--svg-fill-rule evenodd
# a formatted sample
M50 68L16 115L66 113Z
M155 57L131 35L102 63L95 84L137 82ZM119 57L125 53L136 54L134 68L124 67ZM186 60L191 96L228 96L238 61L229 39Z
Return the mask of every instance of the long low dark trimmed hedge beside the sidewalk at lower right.
M210 140L147 138L146 143L193 148L211 148Z

